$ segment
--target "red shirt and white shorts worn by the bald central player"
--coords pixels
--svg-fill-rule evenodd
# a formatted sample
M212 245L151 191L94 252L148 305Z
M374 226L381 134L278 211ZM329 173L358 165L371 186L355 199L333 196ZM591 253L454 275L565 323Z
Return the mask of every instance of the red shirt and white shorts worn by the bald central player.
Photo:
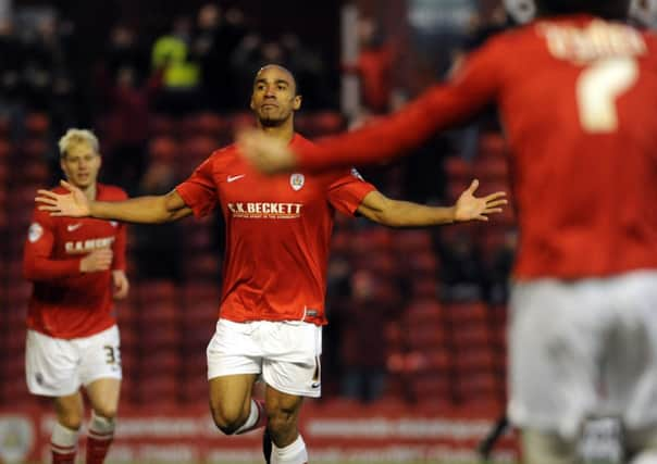
M292 141L293 148L309 145L299 135ZM209 378L262 372L282 391L319 396L333 215L352 215L372 190L349 170L266 177L235 146L215 151L176 187L195 215L219 204L226 222L216 333L222 335L208 347ZM305 368L290 378L276 372L278 362Z

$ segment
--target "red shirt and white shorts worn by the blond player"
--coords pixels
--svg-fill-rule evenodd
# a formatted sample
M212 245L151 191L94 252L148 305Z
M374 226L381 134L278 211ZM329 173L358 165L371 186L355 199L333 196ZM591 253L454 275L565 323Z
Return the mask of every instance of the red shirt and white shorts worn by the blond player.
M126 198L116 187L97 187L97 200ZM24 274L34 283L26 351L32 392L63 396L100 377L121 378L111 271L125 269L125 226L116 222L35 210L24 250ZM82 273L80 260L103 248L113 251L111 269Z

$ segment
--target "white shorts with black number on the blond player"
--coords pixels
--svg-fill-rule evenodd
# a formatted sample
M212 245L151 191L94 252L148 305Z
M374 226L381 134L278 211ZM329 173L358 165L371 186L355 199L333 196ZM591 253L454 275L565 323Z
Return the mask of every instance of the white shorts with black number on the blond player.
M64 340L27 330L27 388L34 394L66 397L99 378L121 379L119 328Z

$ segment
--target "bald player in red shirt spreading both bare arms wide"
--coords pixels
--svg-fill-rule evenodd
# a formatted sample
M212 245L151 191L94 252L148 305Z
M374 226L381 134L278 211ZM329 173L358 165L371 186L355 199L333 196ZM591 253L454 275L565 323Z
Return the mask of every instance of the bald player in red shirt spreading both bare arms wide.
M260 70L250 106L262 134L296 148L311 146L294 131L300 105L287 70ZM271 462L301 464L308 461L297 427L301 402L321 394L324 290L335 210L388 226L485 221L506 200L501 192L473 197L476 185L453 208L423 206L384 197L349 168L269 178L252 170L236 146L228 146L165 196L94 202L65 185L70 195L40 191L37 201L40 210L54 215L137 223L202 216L219 204L227 238L220 319L207 353L212 416L227 435L252 430L269 418ZM264 404L251 399L260 375L266 384ZM270 444L266 439L264 444Z

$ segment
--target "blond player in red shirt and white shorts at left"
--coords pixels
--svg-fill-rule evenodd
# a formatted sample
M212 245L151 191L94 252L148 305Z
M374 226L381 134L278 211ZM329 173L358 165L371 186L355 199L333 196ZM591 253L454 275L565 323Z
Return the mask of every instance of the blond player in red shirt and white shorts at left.
M117 187L98 184L101 159L89 130L60 140L66 179L88 201L123 200ZM53 191L64 193L58 187ZM121 389L120 340L112 299L128 292L125 226L92 218L52 217L36 210L24 252L34 283L27 316L25 373L34 394L54 398L52 462L75 461L84 417L80 387L91 403L87 464L100 464L114 436Z

